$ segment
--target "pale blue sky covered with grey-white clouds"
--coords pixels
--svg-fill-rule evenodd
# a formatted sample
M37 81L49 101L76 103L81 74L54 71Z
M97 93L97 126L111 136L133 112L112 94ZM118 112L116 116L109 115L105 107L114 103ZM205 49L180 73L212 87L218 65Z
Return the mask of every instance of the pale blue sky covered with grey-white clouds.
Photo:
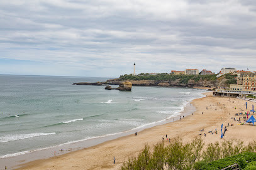
M0 1L0 74L256 70L255 0Z

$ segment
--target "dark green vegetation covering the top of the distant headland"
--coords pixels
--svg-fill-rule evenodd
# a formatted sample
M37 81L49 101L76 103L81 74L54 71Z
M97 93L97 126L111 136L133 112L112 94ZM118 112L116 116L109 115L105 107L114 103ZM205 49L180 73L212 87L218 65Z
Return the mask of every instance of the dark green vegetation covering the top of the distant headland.
M199 80L208 80L215 82L217 80L216 75L170 75L167 73L149 75L148 73L140 73L139 75L121 75L120 80L155 80L155 81L175 81L179 80L179 83L188 83L189 80L198 82Z

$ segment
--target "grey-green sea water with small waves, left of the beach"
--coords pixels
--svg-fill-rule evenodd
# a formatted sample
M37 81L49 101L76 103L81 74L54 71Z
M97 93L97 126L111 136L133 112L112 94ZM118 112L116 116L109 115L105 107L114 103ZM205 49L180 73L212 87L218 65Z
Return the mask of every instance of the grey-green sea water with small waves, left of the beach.
M72 85L106 79L0 75L0 158L154 124L203 97L192 88Z

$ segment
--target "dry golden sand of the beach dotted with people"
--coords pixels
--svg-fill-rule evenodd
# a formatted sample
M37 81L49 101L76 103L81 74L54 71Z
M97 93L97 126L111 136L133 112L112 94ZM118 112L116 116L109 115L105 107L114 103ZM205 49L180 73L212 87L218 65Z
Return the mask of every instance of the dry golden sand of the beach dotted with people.
M58 152L60 152L58 151L55 157L28 162L19 169L120 169L123 162L129 157L136 156L138 152L142 151L145 144L153 146L157 142L162 142L162 137L166 144L169 143L167 141L169 137L171 140L181 137L184 142L187 142L199 134L202 134L201 137L206 144L233 138L241 139L247 144L256 139L256 126L240 125L239 122L231 119L242 117L243 121L242 115L235 114L252 110L254 102L247 102L248 109L246 110L245 100L213 97L212 92L208 92L206 95L207 97L193 100L191 104L196 107L196 112L184 118L181 115L181 120L145 129L136 136L120 137L68 154L58 156ZM220 138L221 124L223 124L223 128L228 124L233 124L233 126L227 127L228 131L223 139ZM201 132L201 129L204 129L204 132ZM215 129L218 134L208 133L209 130ZM206 137L204 137L204 133L206 133ZM116 164L113 164L114 156Z

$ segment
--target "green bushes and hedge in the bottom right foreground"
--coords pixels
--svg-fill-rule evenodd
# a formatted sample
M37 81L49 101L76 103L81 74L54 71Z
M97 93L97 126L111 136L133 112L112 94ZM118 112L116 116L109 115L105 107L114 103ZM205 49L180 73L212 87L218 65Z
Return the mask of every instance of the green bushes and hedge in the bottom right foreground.
M255 167L256 141L244 146L242 141L232 139L208 144L205 149L203 147L204 143L201 138L196 138L187 144L182 143L178 138L167 146L164 146L162 142L152 149L146 145L138 157L129 158L121 169L203 170L222 169L236 163L245 169ZM252 163L247 164L247 162Z

